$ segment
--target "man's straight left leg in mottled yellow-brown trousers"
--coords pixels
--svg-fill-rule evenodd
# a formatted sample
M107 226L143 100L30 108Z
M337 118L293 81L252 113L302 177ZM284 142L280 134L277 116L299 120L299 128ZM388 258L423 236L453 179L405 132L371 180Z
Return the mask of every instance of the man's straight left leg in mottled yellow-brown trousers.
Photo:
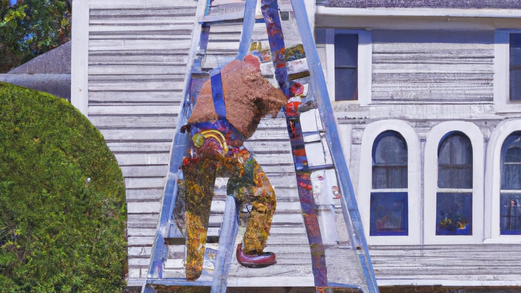
M186 192L187 279L199 278L203 269L204 247L214 195L217 161L189 159L182 167Z

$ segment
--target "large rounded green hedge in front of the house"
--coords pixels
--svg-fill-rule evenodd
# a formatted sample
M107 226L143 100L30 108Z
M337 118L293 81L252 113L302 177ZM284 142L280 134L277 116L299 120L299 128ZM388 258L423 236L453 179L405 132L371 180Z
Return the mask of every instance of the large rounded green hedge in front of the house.
M67 101L0 82L0 291L120 292L125 183Z

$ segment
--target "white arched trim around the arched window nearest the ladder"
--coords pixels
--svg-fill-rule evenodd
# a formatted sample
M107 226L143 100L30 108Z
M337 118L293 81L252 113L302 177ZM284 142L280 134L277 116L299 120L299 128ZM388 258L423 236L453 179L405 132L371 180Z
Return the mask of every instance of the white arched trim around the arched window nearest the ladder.
M407 212L408 236L369 236L371 190L373 186L373 144L380 133L393 130L407 143ZM357 202L362 217L365 237L370 245L420 244L420 144L414 129L402 120L380 120L369 124L362 137ZM400 189L402 191L402 189ZM382 190L385 191L385 190Z

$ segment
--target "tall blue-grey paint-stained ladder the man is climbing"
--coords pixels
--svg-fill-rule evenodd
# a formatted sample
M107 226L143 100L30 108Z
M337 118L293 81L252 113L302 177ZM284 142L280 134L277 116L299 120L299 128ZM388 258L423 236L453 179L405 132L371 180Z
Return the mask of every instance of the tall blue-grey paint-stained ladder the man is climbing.
M202 85L202 82L209 77L209 71L212 70L212 68L204 68L202 66L203 58L208 57L206 56L206 47L211 26L242 23L241 40L237 54L238 59L242 59L251 49L252 31L255 22L266 22L268 39L272 51L271 55L276 55L273 54L275 51L280 52L280 49L284 48L282 33L278 32L282 31L282 28L280 26L277 1L259 1L262 1L264 19L255 18L256 0L245 1L243 14L241 11L232 11L229 13L229 11L224 9L222 13L214 15L208 15L211 3L211 0L208 0L204 13L205 16L202 18L200 26L196 26L194 30L194 44L192 45L189 59L193 60L193 65L191 72L189 72L187 85L184 89L185 99L181 104L178 126L186 124L188 117L190 117L191 109L195 104L194 97L197 92L197 86L199 85L200 87ZM369 293L378 292L376 278L362 230L361 217L357 209L351 179L341 149L336 121L329 102L324 74L307 19L304 3L303 0L291 0L291 5L305 52L305 59L301 59L301 62L302 60L307 61L307 64L304 64L304 67L307 65L307 68L301 71L309 75L309 86L306 87L306 89L308 91L307 96L311 97L311 99L308 99L308 104L311 105L309 108L312 109L305 114L301 114L306 115L306 118L302 121L298 115L300 112L294 112L293 115L288 115L286 121L288 134L290 136L291 152L293 155L293 165L299 190L302 215L309 249L311 251L314 286L317 292L333 292L335 288L352 288ZM280 59L279 57L274 56L274 68L286 69L286 62L283 58ZM217 63L220 61L225 62L226 60L227 58L224 57L222 60L217 60ZM275 76L280 89L290 97L288 72L277 70ZM302 75L296 74L297 78L301 76ZM316 109L318 109L318 111ZM294 115L295 113L297 114ZM303 126L306 128L306 125L309 125L308 121L310 117L311 120L315 120L315 123L313 123L315 129L312 130L313 133L311 133L311 135L306 136L306 129L303 129ZM188 134L181 133L180 127L177 127L172 143L169 174L165 186L162 210L159 214L159 223L151 255L150 269L142 289L144 293L155 292L159 287L171 286L207 286L212 287L212 292L226 292L227 289L228 274L232 262L232 255L235 251L234 243L238 234L239 221L239 211L236 210L235 200L231 196L226 197L222 225L218 235L216 235L219 242L215 256L214 272L211 279L207 277L190 281L180 276L170 276L165 270L169 255L172 254L172 252L169 251L169 246L174 243L178 245L184 243L184 236L181 235L177 229L177 225L174 223L173 213L177 198L177 182L179 177L182 176L179 167L187 151L188 139ZM306 150L313 150L313 148L308 148L309 145L313 145L315 149L317 145L322 148L325 153L324 163L307 164L309 161L306 156ZM313 158L310 158L313 161ZM317 220L317 212L319 213L319 211L317 211L317 205L315 204L312 182L312 176L316 174L314 172L317 171L322 172L319 174L325 174L326 177L336 177L330 179L330 181L338 182L339 194L341 195L339 202L345 227L346 230L348 230L350 238L349 243L351 247L349 248L322 242L321 233L324 234L327 233L327 231L323 227L320 229ZM360 274L359 276L353 277L353 282L338 276L343 271L330 269L330 273L328 274L327 265L329 264L331 267L333 264L334 266L339 266L338 263L334 263L334 258L341 254L352 254L352 257L356 259L358 267L354 271L360 272Z

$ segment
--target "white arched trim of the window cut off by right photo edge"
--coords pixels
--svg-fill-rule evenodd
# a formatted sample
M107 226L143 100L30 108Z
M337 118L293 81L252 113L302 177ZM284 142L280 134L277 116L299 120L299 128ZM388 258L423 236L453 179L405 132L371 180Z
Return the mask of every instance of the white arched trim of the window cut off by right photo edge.
M486 194L490 197L486 198L485 206L485 231L486 243L519 243L521 235L501 235L500 231L500 195L501 195L501 148L505 139L512 134L512 132L521 130L521 120L503 121L493 130L490 140L489 148L487 149L487 157L490 158L487 162L487 182Z

